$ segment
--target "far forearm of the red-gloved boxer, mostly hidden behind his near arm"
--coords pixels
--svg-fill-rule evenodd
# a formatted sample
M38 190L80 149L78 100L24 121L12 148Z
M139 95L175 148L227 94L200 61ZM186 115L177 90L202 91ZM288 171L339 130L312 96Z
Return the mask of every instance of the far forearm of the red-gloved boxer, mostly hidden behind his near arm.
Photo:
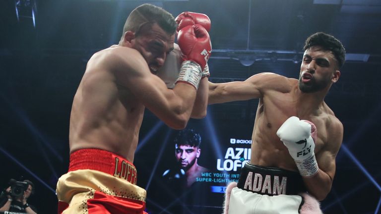
M206 108L208 106L208 90L208 78L202 78L198 86L191 118L201 119L206 116Z

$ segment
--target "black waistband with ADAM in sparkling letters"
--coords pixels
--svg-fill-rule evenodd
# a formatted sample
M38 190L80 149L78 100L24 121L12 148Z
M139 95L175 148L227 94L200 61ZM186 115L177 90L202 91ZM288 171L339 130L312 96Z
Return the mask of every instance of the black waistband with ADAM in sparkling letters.
M275 167L261 167L249 162L242 168L237 187L261 195L297 195L306 192L298 172Z

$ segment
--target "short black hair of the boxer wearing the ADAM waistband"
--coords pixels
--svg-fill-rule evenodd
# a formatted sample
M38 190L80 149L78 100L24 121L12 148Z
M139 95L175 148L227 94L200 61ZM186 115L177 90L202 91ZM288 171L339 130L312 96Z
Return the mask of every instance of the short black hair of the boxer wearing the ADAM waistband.
M312 46L320 46L325 51L330 51L335 56L339 67L343 66L345 61L345 49L341 42L332 35L318 32L306 39L303 51L311 48Z

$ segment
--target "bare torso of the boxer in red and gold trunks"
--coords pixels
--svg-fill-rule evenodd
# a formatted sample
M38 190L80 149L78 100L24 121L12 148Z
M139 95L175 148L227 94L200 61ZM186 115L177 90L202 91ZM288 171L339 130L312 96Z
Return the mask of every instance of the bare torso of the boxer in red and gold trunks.
M101 69L107 66L102 57L117 49L134 53L112 46L94 54L87 64L70 115L70 153L97 148L133 160L144 106L126 87L117 84L112 71Z

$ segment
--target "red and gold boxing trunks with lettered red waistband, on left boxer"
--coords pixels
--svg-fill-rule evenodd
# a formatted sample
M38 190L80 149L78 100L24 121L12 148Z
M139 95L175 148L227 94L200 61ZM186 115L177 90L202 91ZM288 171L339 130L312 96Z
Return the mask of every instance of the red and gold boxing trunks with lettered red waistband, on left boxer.
M71 153L56 192L59 214L146 214L146 192L136 186L135 166L104 150Z

